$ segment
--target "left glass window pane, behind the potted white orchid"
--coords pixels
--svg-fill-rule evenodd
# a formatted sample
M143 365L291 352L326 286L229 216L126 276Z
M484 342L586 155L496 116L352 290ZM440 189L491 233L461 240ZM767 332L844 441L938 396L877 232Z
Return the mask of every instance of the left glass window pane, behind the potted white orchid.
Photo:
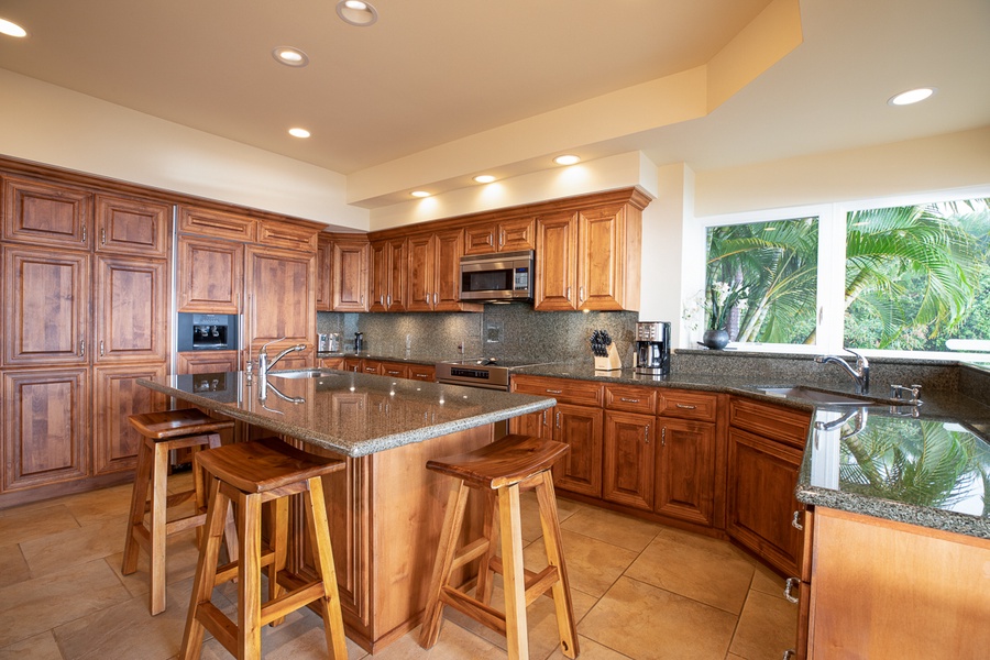
M813 344L818 219L707 230L705 328L737 342Z

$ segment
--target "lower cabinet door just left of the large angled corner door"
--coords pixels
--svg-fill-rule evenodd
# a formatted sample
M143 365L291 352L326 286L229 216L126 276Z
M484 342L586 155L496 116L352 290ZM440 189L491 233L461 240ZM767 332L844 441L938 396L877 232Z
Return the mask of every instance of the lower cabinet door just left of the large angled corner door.
M672 518L715 524L715 425L658 418L660 454L656 510Z

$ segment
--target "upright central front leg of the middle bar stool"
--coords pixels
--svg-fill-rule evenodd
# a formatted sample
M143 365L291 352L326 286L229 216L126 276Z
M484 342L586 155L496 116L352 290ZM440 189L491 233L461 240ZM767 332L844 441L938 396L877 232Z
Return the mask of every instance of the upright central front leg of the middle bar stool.
M238 497L238 660L261 660L261 495Z

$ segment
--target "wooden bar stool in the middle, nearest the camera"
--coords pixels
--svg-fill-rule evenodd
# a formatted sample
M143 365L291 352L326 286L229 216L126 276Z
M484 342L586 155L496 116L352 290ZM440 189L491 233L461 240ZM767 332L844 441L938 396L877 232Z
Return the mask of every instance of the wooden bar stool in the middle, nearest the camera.
M197 454L196 461L210 477L206 539L200 548L193 596L186 616L186 631L179 658L198 659L202 650L204 630L209 630L223 647L240 660L261 658L261 628L275 625L296 609L321 604L327 647L333 658L348 657L344 640L337 572L330 548L330 527L320 477L344 469L344 462L308 454L277 438L228 444ZM314 563L319 579L284 592L278 571L285 569L288 536L289 495L302 493L306 525L312 541ZM235 502L240 559L217 566L223 513ZM268 547L262 549L261 507L274 502L273 532ZM267 566L268 601L262 605L261 571ZM234 624L210 601L213 586L238 579L238 622Z

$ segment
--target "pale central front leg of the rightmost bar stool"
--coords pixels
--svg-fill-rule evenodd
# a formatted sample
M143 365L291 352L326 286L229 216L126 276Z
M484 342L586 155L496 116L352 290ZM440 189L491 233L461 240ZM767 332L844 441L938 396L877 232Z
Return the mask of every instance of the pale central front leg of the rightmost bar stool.
M505 584L505 637L509 660L529 658L526 626L526 574L522 571L522 521L519 484L498 490L498 526Z

